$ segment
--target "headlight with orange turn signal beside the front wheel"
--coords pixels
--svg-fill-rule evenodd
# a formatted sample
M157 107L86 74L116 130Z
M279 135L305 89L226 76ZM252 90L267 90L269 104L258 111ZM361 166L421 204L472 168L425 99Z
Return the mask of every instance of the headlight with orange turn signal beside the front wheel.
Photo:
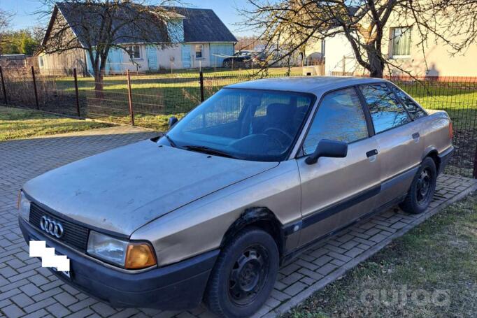
M140 269L156 264L152 247L147 243L129 243L90 231L87 253L127 269Z

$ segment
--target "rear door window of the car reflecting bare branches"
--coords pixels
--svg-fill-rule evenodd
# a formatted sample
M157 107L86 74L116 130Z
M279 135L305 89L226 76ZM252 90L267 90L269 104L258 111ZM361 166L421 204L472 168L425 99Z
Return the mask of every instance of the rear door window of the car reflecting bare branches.
M401 126L410 121L406 110L401 106L397 97L387 88L387 85L364 85L360 89L368 104L376 133Z

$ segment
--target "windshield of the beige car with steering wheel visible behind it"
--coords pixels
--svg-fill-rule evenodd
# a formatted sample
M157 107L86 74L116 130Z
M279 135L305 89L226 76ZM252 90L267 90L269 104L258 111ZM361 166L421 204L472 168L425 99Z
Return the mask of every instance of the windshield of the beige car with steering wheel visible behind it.
M304 93L222 89L180 120L162 142L236 159L282 161L313 101Z

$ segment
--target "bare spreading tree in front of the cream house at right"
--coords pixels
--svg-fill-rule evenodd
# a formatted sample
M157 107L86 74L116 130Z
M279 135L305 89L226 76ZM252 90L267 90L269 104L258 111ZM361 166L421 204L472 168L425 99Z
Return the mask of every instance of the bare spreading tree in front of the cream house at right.
M293 40L280 59L286 59L313 39L342 34L349 41L357 63L372 77L383 77L387 67L406 69L383 54L386 28L393 19L404 21L420 36L424 55L429 41L443 41L452 54L476 43L476 0L248 0L241 12L244 25L261 31L271 48L278 36ZM425 58L425 56L424 56ZM278 63L278 60L275 61Z

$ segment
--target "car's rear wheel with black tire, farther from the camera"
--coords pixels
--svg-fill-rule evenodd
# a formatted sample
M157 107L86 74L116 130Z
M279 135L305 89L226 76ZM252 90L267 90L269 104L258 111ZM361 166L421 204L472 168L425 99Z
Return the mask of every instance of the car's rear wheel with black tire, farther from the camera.
M434 197L436 181L436 163L432 158L426 157L414 177L406 198L399 205L401 209L412 214L424 212Z

